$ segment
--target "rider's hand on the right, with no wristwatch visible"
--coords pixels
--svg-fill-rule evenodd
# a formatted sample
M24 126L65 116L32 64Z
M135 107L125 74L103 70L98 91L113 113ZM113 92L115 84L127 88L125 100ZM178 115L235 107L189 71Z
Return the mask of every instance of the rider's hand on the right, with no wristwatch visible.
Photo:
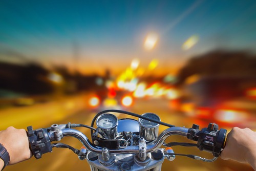
M256 170L256 132L234 127L227 135L221 158L249 163Z

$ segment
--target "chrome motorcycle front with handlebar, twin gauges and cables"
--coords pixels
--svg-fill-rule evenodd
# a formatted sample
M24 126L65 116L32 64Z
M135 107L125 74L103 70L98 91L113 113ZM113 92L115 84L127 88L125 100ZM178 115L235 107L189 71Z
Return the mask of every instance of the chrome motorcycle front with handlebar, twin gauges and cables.
M119 119L113 113L121 113L138 117L138 120ZM94 123L96 121L97 128ZM159 125L168 128L158 136ZM74 129L86 127L91 129L90 141L86 135ZM218 129L216 123L199 130L199 125L190 128L176 127L162 122L154 113L138 115L122 110L105 110L99 112L92 120L91 126L84 124L53 124L48 128L33 130L28 126L30 149L36 159L43 154L52 152L53 147L69 148L78 155L80 160L87 160L91 170L161 170L164 159L173 161L176 156L186 156L204 162L215 161L225 146L225 129ZM197 143L168 142L169 136L187 137ZM72 136L80 140L81 149L68 144L52 143L63 137ZM212 153L212 159L195 155L176 154L172 146L196 146L200 151ZM165 146L166 148L161 148Z

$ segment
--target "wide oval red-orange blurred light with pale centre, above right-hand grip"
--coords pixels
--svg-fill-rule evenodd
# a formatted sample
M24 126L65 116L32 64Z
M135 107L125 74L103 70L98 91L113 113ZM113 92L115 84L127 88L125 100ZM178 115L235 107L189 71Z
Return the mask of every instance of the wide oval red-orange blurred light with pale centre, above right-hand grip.
M246 112L236 110L219 110L215 119L223 122L243 122L248 117Z

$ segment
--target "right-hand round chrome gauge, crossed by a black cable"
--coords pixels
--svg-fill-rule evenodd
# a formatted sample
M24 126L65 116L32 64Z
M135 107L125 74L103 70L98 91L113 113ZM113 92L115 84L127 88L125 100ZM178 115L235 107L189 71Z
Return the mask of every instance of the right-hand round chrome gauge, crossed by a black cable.
M142 116L160 121L160 117L154 113L144 113ZM143 137L146 141L153 141L157 138L159 123L139 118L139 125L140 137Z

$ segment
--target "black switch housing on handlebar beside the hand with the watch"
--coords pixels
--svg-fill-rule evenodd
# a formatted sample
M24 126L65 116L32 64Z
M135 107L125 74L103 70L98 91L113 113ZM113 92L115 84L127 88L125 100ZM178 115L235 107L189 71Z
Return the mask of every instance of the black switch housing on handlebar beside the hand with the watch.
M42 154L52 152L52 145L47 129L33 130L28 126L29 147L36 159L40 159Z

